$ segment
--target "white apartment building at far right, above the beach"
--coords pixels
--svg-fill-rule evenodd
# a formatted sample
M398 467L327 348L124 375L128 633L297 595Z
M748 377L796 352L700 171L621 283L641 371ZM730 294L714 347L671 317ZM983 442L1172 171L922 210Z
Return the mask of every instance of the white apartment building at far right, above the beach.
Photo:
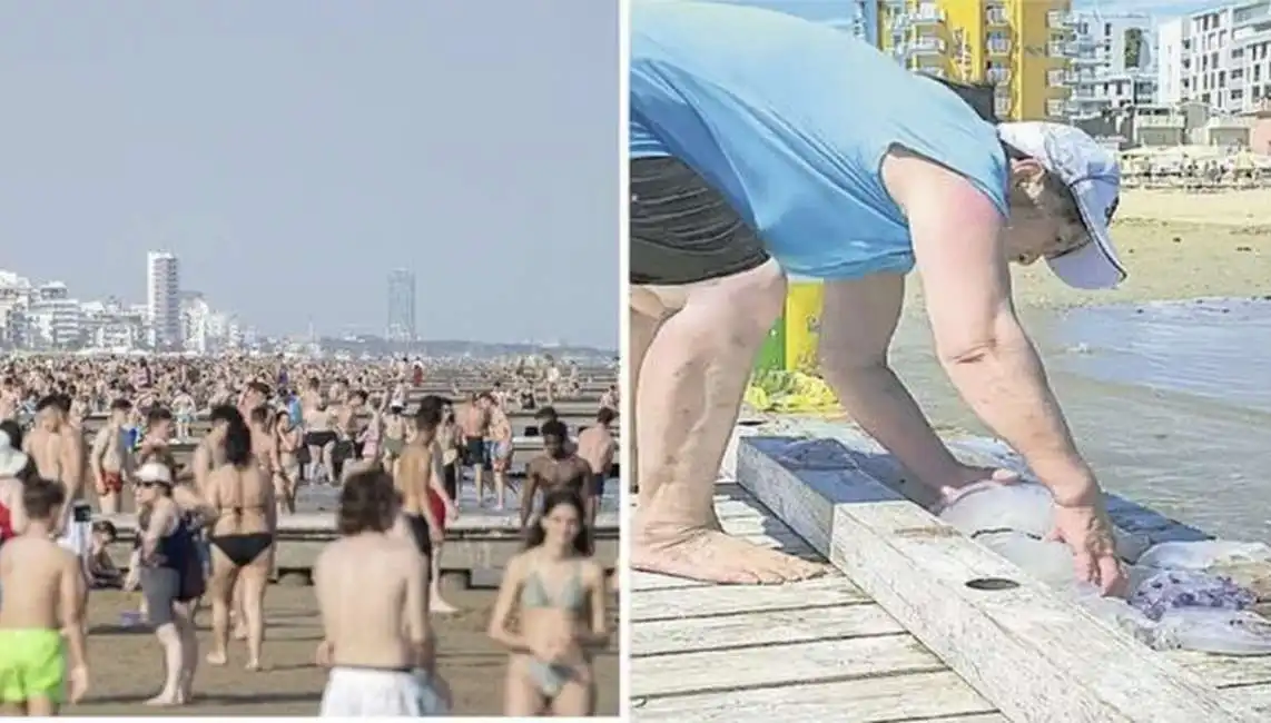
M1220 113L1271 103L1271 0L1246 0L1160 23L1159 100Z

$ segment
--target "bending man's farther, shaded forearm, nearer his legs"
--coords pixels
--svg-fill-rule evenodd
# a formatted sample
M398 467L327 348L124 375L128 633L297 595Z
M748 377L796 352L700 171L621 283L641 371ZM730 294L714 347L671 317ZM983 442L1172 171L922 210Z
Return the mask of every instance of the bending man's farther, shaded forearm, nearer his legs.
M871 437L933 488L957 484L949 479L957 460L932 429L918 403L886 366L824 371L839 402Z

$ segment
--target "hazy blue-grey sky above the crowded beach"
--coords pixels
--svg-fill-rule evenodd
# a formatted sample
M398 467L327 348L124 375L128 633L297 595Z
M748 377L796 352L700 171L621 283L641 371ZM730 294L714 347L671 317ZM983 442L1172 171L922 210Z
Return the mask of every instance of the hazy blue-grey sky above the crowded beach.
M0 268L269 333L618 339L618 11L597 0L0 3Z

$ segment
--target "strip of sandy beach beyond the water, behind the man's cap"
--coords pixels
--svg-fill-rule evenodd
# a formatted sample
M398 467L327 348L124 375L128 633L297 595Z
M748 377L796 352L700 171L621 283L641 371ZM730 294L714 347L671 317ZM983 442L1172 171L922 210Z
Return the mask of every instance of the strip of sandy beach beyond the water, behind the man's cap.
M1014 268L1023 307L1087 306L1271 294L1271 191L1182 193L1129 189L1112 239L1130 278L1113 291L1063 285L1045 263ZM916 274L911 296L921 294ZM920 309L910 305L909 309Z

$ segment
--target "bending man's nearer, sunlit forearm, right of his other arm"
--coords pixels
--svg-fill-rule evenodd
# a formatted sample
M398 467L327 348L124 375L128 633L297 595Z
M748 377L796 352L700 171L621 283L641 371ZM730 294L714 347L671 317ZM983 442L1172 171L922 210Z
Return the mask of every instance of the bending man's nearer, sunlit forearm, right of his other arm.
M1037 351L1018 323L1003 327L994 344L947 358L944 368L971 409L1023 455L1057 502L1089 502L1098 484L1077 451Z

